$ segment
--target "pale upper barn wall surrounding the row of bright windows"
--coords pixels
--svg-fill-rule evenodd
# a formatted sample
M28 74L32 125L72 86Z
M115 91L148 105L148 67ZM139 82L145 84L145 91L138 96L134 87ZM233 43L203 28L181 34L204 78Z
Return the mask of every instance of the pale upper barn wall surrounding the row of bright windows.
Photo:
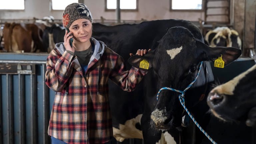
M94 19L104 17L116 19L114 11L105 11L105 0L84 0ZM138 0L138 11L121 11L121 20L156 20L156 19L186 19L198 21L204 19L203 11L169 11L169 0ZM49 0L25 0L25 10L1 10L0 19L32 19L52 15L61 19L62 10L50 10Z

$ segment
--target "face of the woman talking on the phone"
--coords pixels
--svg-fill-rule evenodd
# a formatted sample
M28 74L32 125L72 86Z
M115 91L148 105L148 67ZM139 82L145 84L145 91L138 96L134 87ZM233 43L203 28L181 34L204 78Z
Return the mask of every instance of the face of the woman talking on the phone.
M92 23L87 19L78 19L71 24L69 31L76 41L88 42L92 36Z

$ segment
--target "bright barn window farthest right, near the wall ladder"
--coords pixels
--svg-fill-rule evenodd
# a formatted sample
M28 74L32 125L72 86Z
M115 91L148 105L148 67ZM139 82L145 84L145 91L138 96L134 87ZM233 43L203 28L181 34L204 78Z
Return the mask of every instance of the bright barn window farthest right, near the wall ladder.
M202 10L203 0L170 0L171 10Z

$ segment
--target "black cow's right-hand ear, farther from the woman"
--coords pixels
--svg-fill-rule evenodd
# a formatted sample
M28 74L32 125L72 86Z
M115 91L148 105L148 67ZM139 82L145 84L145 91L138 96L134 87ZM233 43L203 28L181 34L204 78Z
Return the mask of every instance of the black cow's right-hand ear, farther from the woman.
M230 64L242 54L242 51L234 47L209 47L208 45L196 40L197 48L202 54L203 60L216 60L222 55L225 65Z

